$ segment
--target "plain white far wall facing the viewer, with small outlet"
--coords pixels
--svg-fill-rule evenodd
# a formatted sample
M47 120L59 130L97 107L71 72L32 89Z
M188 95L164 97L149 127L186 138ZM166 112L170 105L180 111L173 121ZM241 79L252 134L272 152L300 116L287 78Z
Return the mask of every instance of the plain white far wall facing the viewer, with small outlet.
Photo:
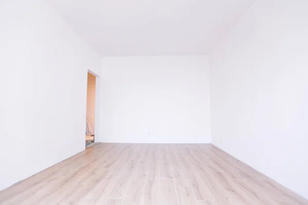
M210 142L207 56L105 57L101 141Z

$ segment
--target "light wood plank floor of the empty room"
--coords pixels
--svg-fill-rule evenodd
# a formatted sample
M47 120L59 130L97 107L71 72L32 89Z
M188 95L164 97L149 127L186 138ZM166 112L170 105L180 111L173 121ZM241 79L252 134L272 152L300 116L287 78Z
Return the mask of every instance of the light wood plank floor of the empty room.
M0 204L308 204L213 145L95 144Z

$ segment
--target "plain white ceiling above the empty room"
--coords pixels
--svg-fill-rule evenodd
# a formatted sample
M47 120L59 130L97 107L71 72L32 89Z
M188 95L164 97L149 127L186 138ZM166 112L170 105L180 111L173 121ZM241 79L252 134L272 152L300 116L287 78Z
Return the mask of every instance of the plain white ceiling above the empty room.
M101 56L208 54L254 0L46 0Z

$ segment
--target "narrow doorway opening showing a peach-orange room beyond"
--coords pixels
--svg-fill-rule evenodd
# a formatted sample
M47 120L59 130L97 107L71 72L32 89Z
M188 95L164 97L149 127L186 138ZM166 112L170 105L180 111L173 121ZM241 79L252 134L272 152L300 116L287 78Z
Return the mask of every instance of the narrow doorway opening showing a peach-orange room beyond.
M88 72L87 112L86 112L86 147L94 144L95 137L95 85L96 77Z

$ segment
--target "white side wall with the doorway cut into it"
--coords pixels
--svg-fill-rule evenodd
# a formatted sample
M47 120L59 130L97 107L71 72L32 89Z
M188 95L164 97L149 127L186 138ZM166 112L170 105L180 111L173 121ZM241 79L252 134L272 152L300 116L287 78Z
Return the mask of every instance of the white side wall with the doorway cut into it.
M0 7L0 189L85 149L87 69L101 57L47 5Z

